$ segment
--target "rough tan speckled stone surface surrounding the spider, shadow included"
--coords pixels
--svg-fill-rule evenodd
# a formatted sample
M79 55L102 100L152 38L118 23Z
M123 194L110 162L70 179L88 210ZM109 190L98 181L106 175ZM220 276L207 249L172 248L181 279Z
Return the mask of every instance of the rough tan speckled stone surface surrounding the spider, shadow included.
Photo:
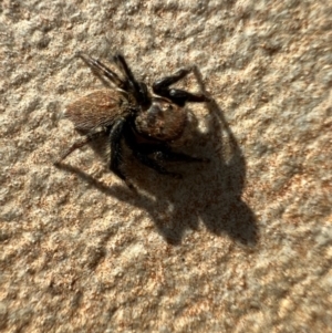
M332 332L332 2L0 3L0 331ZM160 176L77 137L65 105L196 64L197 124ZM195 124L194 124L195 125Z

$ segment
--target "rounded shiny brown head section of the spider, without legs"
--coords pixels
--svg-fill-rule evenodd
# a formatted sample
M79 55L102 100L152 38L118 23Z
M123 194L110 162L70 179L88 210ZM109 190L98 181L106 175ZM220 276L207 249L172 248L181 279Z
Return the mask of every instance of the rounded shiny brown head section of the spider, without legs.
M145 137L172 142L181 136L187 122L184 107L167 100L154 98L147 111L142 111L135 119L135 126Z

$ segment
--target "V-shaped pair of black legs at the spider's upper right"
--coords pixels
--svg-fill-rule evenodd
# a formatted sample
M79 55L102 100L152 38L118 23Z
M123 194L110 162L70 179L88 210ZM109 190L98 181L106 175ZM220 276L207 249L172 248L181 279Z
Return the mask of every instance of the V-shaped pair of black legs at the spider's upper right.
M179 106L184 106L186 102L208 102L209 98L204 94L191 94L184 90L179 89L169 89L169 85L183 80L190 72L193 72L194 67L181 69L178 70L174 75L163 77L157 80L153 84L153 91L155 94L169 98L172 102Z

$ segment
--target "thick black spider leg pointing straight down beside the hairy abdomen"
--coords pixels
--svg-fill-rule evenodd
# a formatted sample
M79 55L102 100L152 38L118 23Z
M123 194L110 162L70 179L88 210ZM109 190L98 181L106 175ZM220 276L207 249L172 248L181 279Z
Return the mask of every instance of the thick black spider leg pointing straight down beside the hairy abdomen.
M123 180L126 180L126 176L121 170L120 166L122 164L121 139L124 134L125 123L125 118L117 119L112 126L108 135L111 145L110 170Z

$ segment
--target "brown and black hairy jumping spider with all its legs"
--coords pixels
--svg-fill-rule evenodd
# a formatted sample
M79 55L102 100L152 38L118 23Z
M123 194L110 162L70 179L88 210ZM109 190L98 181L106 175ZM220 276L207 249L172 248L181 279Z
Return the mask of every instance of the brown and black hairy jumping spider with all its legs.
M122 54L115 54L113 62L121 75L102 62L86 54L77 55L93 70L110 90L95 91L66 107L64 115L74 124L75 129L85 134L62 154L62 159L91 141L107 135L111 146L110 169L123 180L127 180L121 169L122 139L133 155L144 165L159 174L181 177L170 173L157 163L158 159L204 162L184 153L175 153L169 144L181 137L187 124L187 102L208 102L204 94L191 94L169 86L194 67L181 69L174 75L156 81L151 94L144 82L137 81ZM126 181L127 183L127 181ZM128 183L127 183L128 184Z

